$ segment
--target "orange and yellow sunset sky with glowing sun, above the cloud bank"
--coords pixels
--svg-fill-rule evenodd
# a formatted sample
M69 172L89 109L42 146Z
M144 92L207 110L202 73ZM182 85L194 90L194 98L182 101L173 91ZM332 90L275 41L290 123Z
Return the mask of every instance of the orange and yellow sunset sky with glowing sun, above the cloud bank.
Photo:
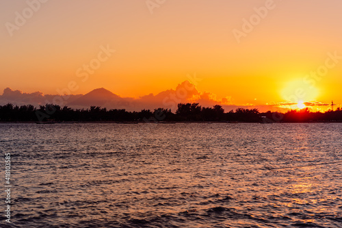
M0 1L1 92L140 97L196 74L235 105L342 104L341 0L40 1Z

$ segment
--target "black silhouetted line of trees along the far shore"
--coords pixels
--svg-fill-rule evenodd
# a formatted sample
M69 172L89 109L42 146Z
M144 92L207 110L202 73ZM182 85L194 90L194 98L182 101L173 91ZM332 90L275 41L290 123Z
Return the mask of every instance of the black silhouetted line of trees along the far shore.
M0 105L0 121L231 121L249 123L300 123L300 122L327 122L342 121L342 110L328 112L309 112L308 108L303 110L290 110L282 114L280 112L260 113L257 109L237 108L230 112L224 112L221 105L213 107L202 107L198 103L179 103L175 113L164 108L141 110L140 112L127 112L124 109L107 110L105 107L91 106L88 109L72 109L68 106L47 104L34 107L33 105Z

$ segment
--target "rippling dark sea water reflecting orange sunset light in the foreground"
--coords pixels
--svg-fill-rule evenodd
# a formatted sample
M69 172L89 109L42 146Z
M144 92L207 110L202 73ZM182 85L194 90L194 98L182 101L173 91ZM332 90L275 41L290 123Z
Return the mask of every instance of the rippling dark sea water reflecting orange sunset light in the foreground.
M0 124L13 185L0 227L342 227L341 136L339 123Z

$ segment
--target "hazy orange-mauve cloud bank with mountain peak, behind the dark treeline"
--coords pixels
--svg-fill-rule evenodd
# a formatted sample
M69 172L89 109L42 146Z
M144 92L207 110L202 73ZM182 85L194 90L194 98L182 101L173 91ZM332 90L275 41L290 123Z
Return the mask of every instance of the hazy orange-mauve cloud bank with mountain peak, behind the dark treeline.
M260 112L287 112L292 105L289 101L272 103L266 105L254 105L247 103L245 105L235 105L232 97L217 99L212 92L199 92L190 81L183 81L176 88L159 92L158 94L147 94L137 99L132 97L120 97L104 88L99 88L82 95L60 96L52 94L43 94L42 92L25 93L20 90L5 88L3 95L0 95L0 105L13 103L14 105L31 104L38 107L53 101L64 101L58 105L68 105L73 108L89 108L91 105L107 107L108 109L125 109L127 111L140 111L142 109L154 110L158 107L171 109L176 112L179 103L199 103L202 107L213 107L213 105L222 105L225 112L236 110L238 107L257 108ZM304 103L308 107L328 106L328 103L311 101Z

